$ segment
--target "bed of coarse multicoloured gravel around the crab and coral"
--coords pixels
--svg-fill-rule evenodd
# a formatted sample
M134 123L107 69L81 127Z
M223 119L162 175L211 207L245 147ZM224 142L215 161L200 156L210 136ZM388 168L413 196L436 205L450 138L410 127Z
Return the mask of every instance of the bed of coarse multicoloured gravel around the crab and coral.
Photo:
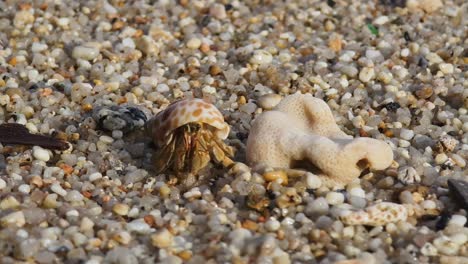
M468 263L465 1L32 2L0 1L0 124L71 148L0 144L0 263ZM297 92L392 165L345 189L247 166L252 120ZM190 188L142 133L182 98L236 150ZM378 201L411 212L340 218Z

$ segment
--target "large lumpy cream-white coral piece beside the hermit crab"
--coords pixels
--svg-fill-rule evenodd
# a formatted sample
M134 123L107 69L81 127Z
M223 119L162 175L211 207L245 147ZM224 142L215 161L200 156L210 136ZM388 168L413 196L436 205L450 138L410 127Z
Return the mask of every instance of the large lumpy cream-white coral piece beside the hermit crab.
M310 94L284 98L253 123L247 140L250 165L297 168L312 165L326 187L344 187L366 167L382 170L393 161L391 147L372 138L346 135L328 105Z

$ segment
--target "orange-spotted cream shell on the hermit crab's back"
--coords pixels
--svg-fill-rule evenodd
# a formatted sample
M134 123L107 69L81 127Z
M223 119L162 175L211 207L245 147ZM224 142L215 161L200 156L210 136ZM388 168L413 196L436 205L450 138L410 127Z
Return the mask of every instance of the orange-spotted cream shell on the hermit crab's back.
M146 131L156 145L162 146L170 140L174 129L189 123L209 125L219 139L229 135L229 126L221 112L201 99L184 99L170 104L146 124Z

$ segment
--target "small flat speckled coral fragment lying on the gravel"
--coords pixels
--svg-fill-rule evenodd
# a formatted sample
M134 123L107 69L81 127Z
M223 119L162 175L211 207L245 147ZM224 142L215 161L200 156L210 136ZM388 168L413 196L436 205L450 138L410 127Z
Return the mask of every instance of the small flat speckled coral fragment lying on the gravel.
M381 202L360 211L344 211L341 221L347 225L383 226L388 223L405 221L408 210L404 205L390 202Z

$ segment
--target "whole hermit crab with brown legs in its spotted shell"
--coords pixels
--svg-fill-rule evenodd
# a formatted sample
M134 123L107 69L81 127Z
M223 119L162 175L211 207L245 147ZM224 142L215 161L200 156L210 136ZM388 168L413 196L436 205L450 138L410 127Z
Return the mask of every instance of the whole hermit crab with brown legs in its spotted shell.
M145 125L157 148L153 154L157 173L169 170L179 178L197 174L210 161L232 164L234 151L223 141L229 130L221 112L202 99L176 101Z

